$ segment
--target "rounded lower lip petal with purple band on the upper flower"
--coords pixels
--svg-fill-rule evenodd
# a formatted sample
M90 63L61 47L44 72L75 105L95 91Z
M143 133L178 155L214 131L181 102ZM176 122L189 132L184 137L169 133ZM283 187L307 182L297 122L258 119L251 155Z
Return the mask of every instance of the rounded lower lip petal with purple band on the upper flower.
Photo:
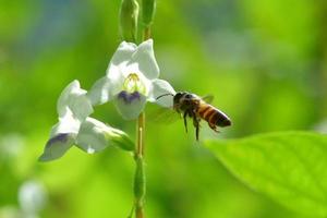
M125 120L134 120L143 111L146 97L138 92L132 94L121 92L114 97L114 106Z

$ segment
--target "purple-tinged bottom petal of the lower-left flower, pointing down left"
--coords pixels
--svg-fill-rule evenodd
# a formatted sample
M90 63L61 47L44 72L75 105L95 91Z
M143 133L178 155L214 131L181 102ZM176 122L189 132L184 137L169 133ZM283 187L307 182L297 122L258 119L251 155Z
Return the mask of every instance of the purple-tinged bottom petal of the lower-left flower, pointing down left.
M61 133L51 137L45 147L44 154L38 158L39 161L50 161L62 157L75 142L75 134Z

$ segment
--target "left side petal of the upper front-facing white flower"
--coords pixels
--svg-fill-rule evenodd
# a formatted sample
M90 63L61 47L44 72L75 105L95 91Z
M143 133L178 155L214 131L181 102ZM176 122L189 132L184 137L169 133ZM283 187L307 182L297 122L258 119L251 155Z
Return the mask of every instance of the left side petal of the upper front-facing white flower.
M93 106L102 105L110 100L110 86L111 83L107 76L101 77L92 86L87 97Z

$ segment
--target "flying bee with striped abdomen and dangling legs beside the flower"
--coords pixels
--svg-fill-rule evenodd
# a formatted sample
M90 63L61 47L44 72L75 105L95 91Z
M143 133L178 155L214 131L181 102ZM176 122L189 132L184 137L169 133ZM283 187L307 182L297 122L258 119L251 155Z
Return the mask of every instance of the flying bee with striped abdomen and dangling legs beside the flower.
M158 100L159 98L168 95L173 96L173 110L181 114L183 113L184 126L186 132L186 118L190 117L193 120L193 125L196 131L196 141L198 141L199 122L202 119L207 121L209 128L215 132L219 132L217 129L218 126L225 128L231 125L231 120L228 118L228 116L214 106L209 105L205 100L205 98L201 98L197 95L187 92L179 92L175 95L170 93L164 94L158 96L156 99Z

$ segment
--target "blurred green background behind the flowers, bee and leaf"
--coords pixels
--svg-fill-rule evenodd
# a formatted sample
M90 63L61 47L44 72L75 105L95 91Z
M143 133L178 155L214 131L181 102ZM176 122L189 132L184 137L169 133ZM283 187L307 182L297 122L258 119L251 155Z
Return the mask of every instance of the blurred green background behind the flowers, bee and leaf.
M0 0L0 217L27 207L22 185L40 185L39 217L126 217L134 162L116 148L37 162L57 122L63 87L90 88L120 43L119 0ZM153 37L177 90L213 94L233 126L201 138L327 130L327 3L324 0L158 0ZM134 137L113 106L95 118ZM184 133L147 122L146 215L156 218L300 217L239 182ZM28 202L28 199L27 199ZM31 201L29 201L31 202Z

